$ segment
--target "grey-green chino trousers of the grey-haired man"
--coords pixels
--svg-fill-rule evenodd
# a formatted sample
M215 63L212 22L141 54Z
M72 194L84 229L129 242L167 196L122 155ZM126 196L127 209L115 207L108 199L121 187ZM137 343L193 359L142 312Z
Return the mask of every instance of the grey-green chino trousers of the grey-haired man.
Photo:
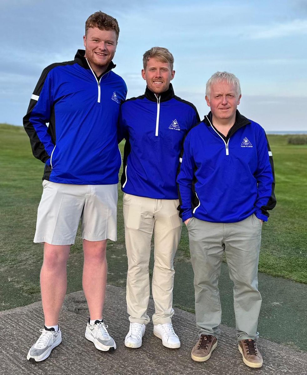
M234 283L233 306L238 341L258 339L261 296L258 261L262 223L253 214L236 223L212 223L193 217L187 225L194 271L196 326L199 334L220 336L218 278L223 251Z

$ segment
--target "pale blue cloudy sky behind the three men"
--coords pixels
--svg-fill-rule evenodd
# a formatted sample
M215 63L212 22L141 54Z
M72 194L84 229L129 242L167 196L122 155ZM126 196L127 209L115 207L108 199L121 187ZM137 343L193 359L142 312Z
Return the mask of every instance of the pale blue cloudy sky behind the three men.
M307 1L1 0L0 122L22 124L45 66L73 60L87 17L117 19L115 72L128 98L143 94L143 53L169 48L175 93L208 113L205 85L216 71L241 81L239 111L266 131L307 130Z

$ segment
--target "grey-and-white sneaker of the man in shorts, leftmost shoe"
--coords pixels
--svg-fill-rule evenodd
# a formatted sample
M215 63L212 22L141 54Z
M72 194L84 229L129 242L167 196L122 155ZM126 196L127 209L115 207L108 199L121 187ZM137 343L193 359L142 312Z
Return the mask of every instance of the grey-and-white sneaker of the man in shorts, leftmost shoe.
M41 362L48 358L51 350L57 347L62 342L62 334L60 329L56 331L49 331L42 328L39 330L42 332L39 336L38 341L29 350L27 360L30 362Z

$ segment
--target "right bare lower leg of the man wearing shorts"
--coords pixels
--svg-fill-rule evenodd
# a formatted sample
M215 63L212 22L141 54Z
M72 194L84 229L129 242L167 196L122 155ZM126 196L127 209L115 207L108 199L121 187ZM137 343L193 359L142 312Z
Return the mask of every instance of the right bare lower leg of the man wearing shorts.
M83 290L92 320L102 319L108 272L106 247L107 240L83 240Z

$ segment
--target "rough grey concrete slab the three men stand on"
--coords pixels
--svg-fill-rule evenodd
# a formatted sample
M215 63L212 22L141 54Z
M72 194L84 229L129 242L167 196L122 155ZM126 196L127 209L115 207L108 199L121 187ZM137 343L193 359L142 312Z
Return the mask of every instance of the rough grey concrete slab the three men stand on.
M149 315L153 314L153 301ZM222 327L222 336L211 359L205 363L191 360L191 348L197 340L195 315L175 309L173 326L181 339L181 348L164 348L152 333L152 323L146 327L143 345L129 349L124 338L129 328L125 290L108 286L105 301L105 323L116 341L112 353L96 350L84 337L88 311L83 292L68 294L60 317L63 341L50 357L34 365L26 360L27 351L39 336L43 314L41 302L0 312L0 374L105 374L105 375L188 375L235 374L257 372L262 375L307 374L307 353L260 339L263 367L250 369L242 362L235 330Z

